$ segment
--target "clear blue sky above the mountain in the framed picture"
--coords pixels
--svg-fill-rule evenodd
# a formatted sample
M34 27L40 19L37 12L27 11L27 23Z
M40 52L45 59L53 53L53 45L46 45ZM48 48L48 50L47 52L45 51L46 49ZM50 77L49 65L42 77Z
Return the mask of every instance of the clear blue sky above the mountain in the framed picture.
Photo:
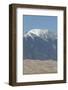
M48 29L50 32L57 32L57 16L23 16L24 32L31 29Z

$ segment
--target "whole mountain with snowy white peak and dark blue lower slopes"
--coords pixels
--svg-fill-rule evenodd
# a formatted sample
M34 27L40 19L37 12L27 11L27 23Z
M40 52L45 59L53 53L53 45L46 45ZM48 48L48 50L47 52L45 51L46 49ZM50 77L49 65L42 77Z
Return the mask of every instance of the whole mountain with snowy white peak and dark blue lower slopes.
M57 34L47 29L32 29L23 37L24 59L57 59Z

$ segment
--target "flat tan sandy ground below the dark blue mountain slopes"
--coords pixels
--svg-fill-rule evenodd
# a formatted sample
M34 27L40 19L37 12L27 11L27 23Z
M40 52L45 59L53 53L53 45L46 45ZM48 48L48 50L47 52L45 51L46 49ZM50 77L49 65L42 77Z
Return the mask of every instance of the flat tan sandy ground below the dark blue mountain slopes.
M23 60L23 74L57 73L56 60Z

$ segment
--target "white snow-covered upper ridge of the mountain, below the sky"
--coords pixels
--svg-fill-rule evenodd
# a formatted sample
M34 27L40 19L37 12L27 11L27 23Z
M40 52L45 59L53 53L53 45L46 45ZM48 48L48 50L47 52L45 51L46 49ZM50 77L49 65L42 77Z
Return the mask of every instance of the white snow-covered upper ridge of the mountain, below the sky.
M57 34L54 32L49 32L48 29L32 29L28 33L24 35L24 37L30 36L31 38L34 39L34 35L37 37L40 37L42 39L56 39Z

